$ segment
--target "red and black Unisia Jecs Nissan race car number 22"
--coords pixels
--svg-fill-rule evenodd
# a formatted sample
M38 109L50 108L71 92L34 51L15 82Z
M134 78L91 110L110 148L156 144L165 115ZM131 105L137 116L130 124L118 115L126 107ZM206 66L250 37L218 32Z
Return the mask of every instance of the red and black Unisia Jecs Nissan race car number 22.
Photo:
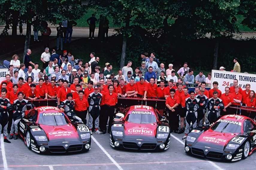
M255 120L225 115L210 128L195 128L187 135L185 152L216 160L246 159L256 150Z

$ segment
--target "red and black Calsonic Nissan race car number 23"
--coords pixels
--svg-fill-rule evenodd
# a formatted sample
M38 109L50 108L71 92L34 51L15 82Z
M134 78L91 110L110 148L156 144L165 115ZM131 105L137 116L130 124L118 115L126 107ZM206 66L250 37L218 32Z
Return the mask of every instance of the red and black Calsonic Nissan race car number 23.
M37 153L88 151L89 128L73 123L60 109L51 106L26 111L18 123L18 132L28 149Z

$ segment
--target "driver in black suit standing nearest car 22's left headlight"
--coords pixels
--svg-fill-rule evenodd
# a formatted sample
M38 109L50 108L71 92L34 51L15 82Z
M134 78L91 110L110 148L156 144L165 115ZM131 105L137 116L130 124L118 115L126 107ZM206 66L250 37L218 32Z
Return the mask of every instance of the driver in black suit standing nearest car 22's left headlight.
M197 110L199 109L199 99L195 97L195 92L190 91L190 97L186 99L186 128L185 136L182 140L187 138L187 134L190 131L190 123L192 122L192 128L196 128Z

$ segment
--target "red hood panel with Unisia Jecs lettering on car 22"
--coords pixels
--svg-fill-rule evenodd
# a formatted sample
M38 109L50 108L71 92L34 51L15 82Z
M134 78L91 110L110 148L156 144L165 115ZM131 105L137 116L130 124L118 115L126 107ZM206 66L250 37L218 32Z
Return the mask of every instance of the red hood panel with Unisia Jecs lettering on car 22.
M224 150L228 142L237 134L216 132L212 129L204 131L196 140L196 145Z

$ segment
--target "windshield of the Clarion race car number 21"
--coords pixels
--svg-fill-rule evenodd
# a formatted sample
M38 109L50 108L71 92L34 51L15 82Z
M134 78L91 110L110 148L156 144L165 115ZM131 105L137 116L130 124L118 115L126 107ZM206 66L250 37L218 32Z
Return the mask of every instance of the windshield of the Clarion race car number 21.
M147 112L147 113L149 114L145 114L145 113L140 114L138 111L132 111L131 114L127 116L126 121L131 123L140 123L140 124L157 122L155 116L151 112Z

